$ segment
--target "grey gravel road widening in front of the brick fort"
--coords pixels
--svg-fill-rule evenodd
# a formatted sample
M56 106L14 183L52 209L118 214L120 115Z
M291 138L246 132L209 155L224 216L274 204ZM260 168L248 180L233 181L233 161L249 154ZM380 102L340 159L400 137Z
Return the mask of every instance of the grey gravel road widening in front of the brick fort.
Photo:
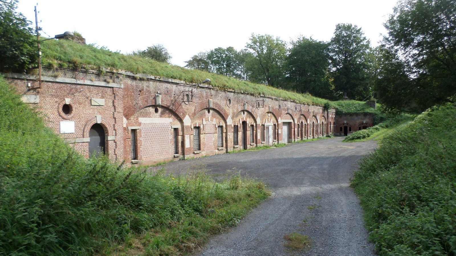
M234 168L263 180L273 192L237 227L212 237L198 255L375 255L373 244L367 240L362 209L349 183L357 160L372 152L376 144L342 143L342 139L167 164L167 171L205 168L214 176ZM285 248L284 236L292 232L309 236L311 248Z

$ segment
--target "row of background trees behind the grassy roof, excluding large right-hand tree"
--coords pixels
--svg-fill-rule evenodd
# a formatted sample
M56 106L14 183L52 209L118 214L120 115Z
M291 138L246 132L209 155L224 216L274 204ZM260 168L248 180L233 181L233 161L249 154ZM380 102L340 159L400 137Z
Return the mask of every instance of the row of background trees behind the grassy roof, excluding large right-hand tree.
M200 52L185 67L332 100L343 93L363 100L372 88L372 52L361 28L338 24L329 42L301 36L287 43L268 34L252 34L245 49Z

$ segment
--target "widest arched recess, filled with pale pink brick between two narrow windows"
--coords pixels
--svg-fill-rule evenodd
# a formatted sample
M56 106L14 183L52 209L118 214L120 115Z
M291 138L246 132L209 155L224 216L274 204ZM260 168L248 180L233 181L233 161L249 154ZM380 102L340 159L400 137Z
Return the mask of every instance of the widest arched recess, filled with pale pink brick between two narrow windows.
M153 163L185 154L182 118L162 105L141 108L125 123L125 158Z

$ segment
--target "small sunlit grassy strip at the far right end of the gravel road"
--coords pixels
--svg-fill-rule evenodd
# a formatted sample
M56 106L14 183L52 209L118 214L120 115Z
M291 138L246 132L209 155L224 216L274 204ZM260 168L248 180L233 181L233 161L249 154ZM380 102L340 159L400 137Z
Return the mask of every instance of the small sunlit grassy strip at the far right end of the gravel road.
M350 133L345 139L344 142L360 142L366 141L369 139L380 140L384 135L394 131L396 128L405 125L413 120L413 115L409 114L397 114L397 115L388 115L382 123L369 127L367 129L359 130L353 133Z

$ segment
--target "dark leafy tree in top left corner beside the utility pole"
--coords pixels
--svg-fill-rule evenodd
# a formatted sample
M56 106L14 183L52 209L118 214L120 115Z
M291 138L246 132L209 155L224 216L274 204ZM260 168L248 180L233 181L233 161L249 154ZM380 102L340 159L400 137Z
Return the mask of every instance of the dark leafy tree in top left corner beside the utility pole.
M36 64L37 46L30 21L16 12L17 1L0 0L0 71L24 72Z

